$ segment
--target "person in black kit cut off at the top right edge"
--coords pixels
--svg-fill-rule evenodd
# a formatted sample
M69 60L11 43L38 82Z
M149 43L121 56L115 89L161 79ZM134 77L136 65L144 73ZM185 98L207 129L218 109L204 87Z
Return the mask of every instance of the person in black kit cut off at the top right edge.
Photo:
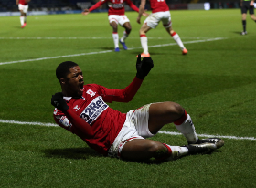
M256 16L254 16L254 0L240 0L240 9L241 9L241 22L243 31L240 33L240 35L244 36L247 34L246 31L246 16L247 12L249 10L249 14L251 16L251 19L256 22Z

